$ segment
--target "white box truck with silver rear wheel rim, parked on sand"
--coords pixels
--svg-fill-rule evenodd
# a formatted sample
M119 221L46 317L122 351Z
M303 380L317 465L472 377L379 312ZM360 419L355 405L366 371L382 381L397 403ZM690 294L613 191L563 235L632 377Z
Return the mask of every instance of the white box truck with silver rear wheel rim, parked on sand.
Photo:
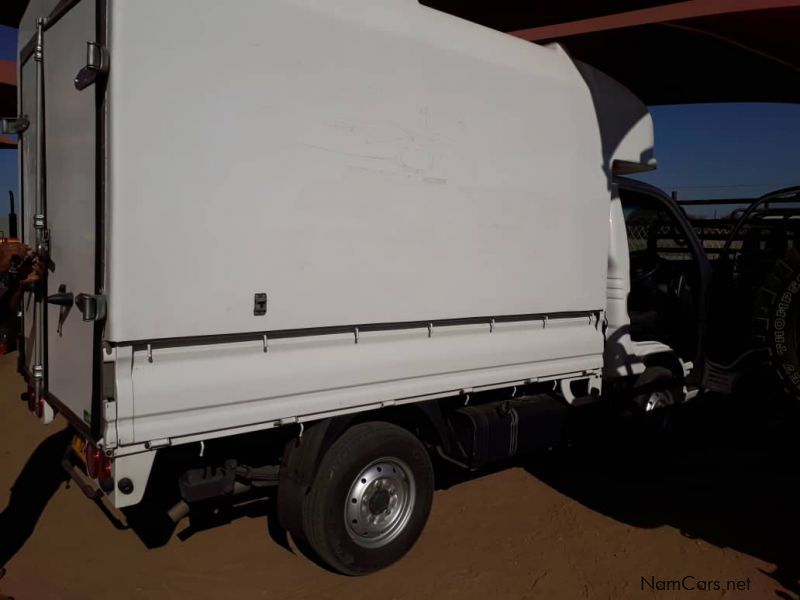
M52 262L19 370L114 507L267 488L364 574L420 535L435 464L693 393L702 249L618 178L655 166L646 107L559 46L416 0L32 0L19 39L4 129Z

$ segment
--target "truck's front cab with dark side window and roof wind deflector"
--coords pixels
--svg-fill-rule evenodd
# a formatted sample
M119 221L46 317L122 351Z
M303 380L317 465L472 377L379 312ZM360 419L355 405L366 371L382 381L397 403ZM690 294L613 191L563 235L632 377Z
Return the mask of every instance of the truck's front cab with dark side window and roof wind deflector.
M657 166L647 107L604 73L576 66L592 93L609 173L605 384L630 390L661 380L668 395L661 386L656 399L632 395L651 411L698 391L711 268L675 200L630 177Z

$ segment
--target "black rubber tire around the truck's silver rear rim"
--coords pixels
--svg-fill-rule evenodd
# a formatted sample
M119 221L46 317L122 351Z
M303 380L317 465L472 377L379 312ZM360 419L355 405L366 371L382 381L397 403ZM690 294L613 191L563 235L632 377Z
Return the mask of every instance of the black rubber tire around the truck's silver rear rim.
M395 462L386 463L384 460ZM413 504L407 510L397 511L397 514L405 514L406 518L402 526L398 522L392 531L392 539L383 543L377 540L376 544L379 545L367 547L363 545L366 543L364 540L357 543L354 539L353 529L357 525L348 525L347 502L351 501L351 495L355 495L351 493L351 487L357 485L357 478L361 477L364 470L372 468L380 471L380 465L385 464L402 465L400 471L403 474L405 469L408 470L410 477L406 481L410 482L409 489L413 492L404 492L404 498L413 496ZM380 482L383 481L399 480L380 479ZM387 485L380 482L375 480L378 488L373 489ZM372 573L402 558L417 541L430 514L433 489L430 456L413 434L390 423L354 425L334 442L320 463L303 503L302 535L318 557L334 570L346 575ZM383 500L387 494L378 492L381 493ZM373 493L369 497L376 498L378 494ZM365 493L362 499L371 511L371 503L367 504L367 498ZM394 500L397 500L397 496L394 496ZM388 511L385 514L391 512L383 504L378 508L381 510L376 513L378 518L383 517L384 508ZM370 512L368 517L375 518L375 515Z

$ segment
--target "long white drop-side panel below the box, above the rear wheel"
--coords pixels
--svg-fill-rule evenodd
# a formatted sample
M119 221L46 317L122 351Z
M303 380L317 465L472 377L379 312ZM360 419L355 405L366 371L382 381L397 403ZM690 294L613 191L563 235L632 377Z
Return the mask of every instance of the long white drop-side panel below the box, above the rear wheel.
M134 442L597 370L596 320L557 319L134 353ZM122 369L128 368L125 364ZM120 415L120 431L129 423Z

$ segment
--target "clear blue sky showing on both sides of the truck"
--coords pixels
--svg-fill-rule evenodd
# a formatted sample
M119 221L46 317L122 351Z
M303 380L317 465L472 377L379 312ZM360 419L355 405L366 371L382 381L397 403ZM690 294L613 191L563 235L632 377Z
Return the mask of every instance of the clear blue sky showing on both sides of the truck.
M0 26L0 59L13 60L16 45L16 30ZM655 106L651 113L658 169L639 179L679 199L752 198L800 185L798 105ZM16 194L16 151L0 150L0 229L8 189Z

